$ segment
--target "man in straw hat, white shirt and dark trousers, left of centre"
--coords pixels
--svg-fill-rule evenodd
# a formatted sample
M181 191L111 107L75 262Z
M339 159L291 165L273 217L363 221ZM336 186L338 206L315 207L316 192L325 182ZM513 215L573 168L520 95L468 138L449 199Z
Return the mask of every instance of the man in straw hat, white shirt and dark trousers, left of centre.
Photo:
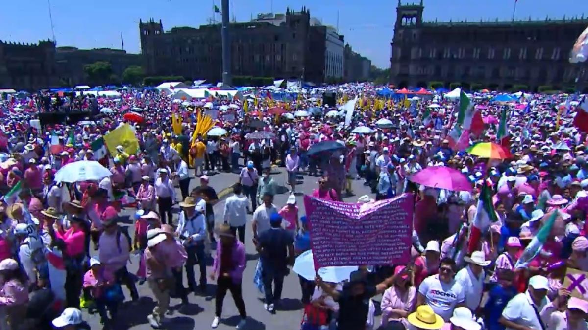
M194 265L198 262L200 268L200 290L206 292L206 217L205 208L197 204L193 197L186 197L179 203L182 208L178 219L176 234L186 248L188 259L186 260L186 278L188 288L195 291L197 285L194 279Z

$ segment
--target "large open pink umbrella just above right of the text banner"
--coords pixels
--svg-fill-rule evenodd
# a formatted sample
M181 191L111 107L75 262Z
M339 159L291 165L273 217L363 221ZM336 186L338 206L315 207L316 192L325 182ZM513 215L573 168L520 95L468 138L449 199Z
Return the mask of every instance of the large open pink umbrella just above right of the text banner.
M472 183L459 170L447 166L430 166L409 177L410 181L426 187L452 191L472 191Z

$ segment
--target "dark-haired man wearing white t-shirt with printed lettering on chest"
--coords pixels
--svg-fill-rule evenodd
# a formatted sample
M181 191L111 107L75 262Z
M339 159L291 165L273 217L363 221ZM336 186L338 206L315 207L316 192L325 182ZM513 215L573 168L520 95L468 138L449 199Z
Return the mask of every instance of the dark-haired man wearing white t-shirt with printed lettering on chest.
M466 299L462 285L453 279L456 268L453 259L443 258L439 262L439 274L431 275L421 282L416 306L427 304L435 314L449 322L453 309L463 306Z

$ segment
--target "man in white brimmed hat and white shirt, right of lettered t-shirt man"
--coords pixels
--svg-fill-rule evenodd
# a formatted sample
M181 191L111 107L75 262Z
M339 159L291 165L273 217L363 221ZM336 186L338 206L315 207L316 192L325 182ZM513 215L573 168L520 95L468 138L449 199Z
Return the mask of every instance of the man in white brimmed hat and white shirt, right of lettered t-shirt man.
M484 285L484 268L490 264L490 261L486 261L484 252L474 251L472 257L463 258L468 265L462 268L457 275L455 280L462 285L466 295L466 307L472 312L476 312L476 309L480 306L480 300L482 299L482 289Z

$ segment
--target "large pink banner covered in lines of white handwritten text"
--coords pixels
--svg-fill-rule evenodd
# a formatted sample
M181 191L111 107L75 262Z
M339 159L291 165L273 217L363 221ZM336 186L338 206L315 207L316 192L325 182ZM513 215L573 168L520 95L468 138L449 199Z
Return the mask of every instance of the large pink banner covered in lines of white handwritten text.
M406 264L412 244L412 194L366 204L305 196L317 269Z

